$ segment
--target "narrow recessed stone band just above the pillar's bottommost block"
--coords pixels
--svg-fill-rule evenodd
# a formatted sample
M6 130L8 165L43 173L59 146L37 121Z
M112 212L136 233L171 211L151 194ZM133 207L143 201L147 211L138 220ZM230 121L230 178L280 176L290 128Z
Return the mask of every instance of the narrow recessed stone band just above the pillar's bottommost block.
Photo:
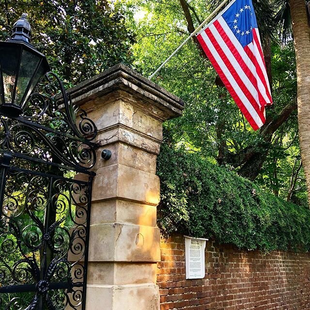
M88 265L88 284L139 284L156 282L156 264L98 263Z

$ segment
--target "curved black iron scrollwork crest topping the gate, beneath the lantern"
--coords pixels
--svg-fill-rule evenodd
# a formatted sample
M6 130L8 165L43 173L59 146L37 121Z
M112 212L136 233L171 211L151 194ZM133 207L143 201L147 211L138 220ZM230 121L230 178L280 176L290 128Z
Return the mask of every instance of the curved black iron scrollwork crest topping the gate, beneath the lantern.
M54 73L47 73L39 91L31 95L21 116L0 115L0 152L75 171L93 168L93 121L72 104Z

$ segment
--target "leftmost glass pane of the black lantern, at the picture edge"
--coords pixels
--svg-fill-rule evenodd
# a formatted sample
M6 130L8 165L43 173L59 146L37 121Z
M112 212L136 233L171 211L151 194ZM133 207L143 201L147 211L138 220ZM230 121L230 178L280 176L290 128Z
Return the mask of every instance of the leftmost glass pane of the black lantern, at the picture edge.
M21 48L16 48L15 45L11 47L0 47L0 67L3 81L4 103L13 102L20 51Z

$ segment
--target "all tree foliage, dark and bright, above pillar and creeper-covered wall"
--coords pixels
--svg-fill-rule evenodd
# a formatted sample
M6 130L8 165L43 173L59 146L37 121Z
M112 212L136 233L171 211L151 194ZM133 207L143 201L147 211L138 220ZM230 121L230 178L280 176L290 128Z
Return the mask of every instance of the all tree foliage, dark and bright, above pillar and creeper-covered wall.
M7 38L13 23L27 12L33 44L69 85L118 62L132 64L149 76L210 14L216 2L0 0L4 8L0 35L2 40ZM283 25L275 27L272 17L277 12L268 6L269 1L254 4L266 51L270 51L266 62L271 68L275 104L267 111L266 126L257 132L249 127L194 41L155 77L156 83L186 102L184 115L166 126L177 145L256 179L282 198L306 203L299 167L293 43L287 40L283 45L276 39ZM277 10L281 10L279 4Z

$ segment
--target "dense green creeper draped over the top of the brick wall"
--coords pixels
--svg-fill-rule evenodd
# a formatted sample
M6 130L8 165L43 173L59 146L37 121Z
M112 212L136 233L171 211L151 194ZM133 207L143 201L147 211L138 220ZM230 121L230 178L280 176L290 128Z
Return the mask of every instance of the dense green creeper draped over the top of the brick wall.
M158 225L239 248L310 250L309 208L285 202L198 153L164 143Z

